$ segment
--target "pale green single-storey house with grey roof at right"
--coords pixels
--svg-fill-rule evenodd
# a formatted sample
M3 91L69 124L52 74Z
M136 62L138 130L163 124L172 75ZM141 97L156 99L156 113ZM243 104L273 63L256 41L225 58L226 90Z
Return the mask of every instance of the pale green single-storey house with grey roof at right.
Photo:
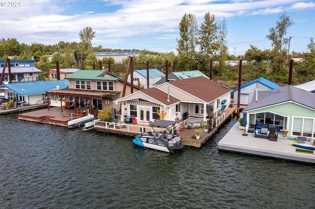
M257 122L286 129L288 136L315 138L315 94L291 85L260 91L243 110L247 128Z

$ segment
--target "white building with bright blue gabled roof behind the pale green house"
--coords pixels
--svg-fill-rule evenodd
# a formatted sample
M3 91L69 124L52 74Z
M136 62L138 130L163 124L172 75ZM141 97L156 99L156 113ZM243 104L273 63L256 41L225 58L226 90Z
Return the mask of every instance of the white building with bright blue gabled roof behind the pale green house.
M258 78L241 86L240 104L248 105L252 102L252 98L257 91L269 91L280 88L281 86L267 80L266 78ZM237 104L238 88L232 91L234 93L234 104Z

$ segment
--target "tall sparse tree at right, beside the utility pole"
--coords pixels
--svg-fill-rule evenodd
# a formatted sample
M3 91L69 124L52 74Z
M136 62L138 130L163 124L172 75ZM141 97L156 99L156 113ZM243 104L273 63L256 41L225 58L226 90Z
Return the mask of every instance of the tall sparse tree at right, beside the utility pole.
M285 57L283 50L284 47L288 44L289 38L285 37L287 29L294 24L293 20L290 20L290 17L286 15L283 11L279 15L279 21L276 22L275 27L269 29L269 35L266 36L271 41L271 46L273 47L274 58L273 63L279 70L284 69Z

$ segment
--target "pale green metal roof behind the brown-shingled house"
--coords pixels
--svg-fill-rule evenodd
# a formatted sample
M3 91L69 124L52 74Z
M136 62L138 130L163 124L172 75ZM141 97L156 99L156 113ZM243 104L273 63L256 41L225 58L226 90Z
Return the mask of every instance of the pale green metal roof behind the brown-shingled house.
M195 77L200 77L200 76L210 79L208 76L204 75L198 70L190 70L190 71L171 72L168 74L167 81L181 80L185 78L195 78ZM158 86L165 82L166 82L166 77L163 77L162 79L158 80L158 82L154 83L154 86Z

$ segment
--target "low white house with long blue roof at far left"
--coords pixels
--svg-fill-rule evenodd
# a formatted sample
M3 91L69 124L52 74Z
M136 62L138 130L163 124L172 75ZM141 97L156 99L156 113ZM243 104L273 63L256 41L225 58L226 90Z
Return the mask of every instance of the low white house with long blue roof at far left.
M68 87L68 80L5 82L0 84L0 91L4 91L5 99L15 99L17 104L41 104L46 99L46 91Z

